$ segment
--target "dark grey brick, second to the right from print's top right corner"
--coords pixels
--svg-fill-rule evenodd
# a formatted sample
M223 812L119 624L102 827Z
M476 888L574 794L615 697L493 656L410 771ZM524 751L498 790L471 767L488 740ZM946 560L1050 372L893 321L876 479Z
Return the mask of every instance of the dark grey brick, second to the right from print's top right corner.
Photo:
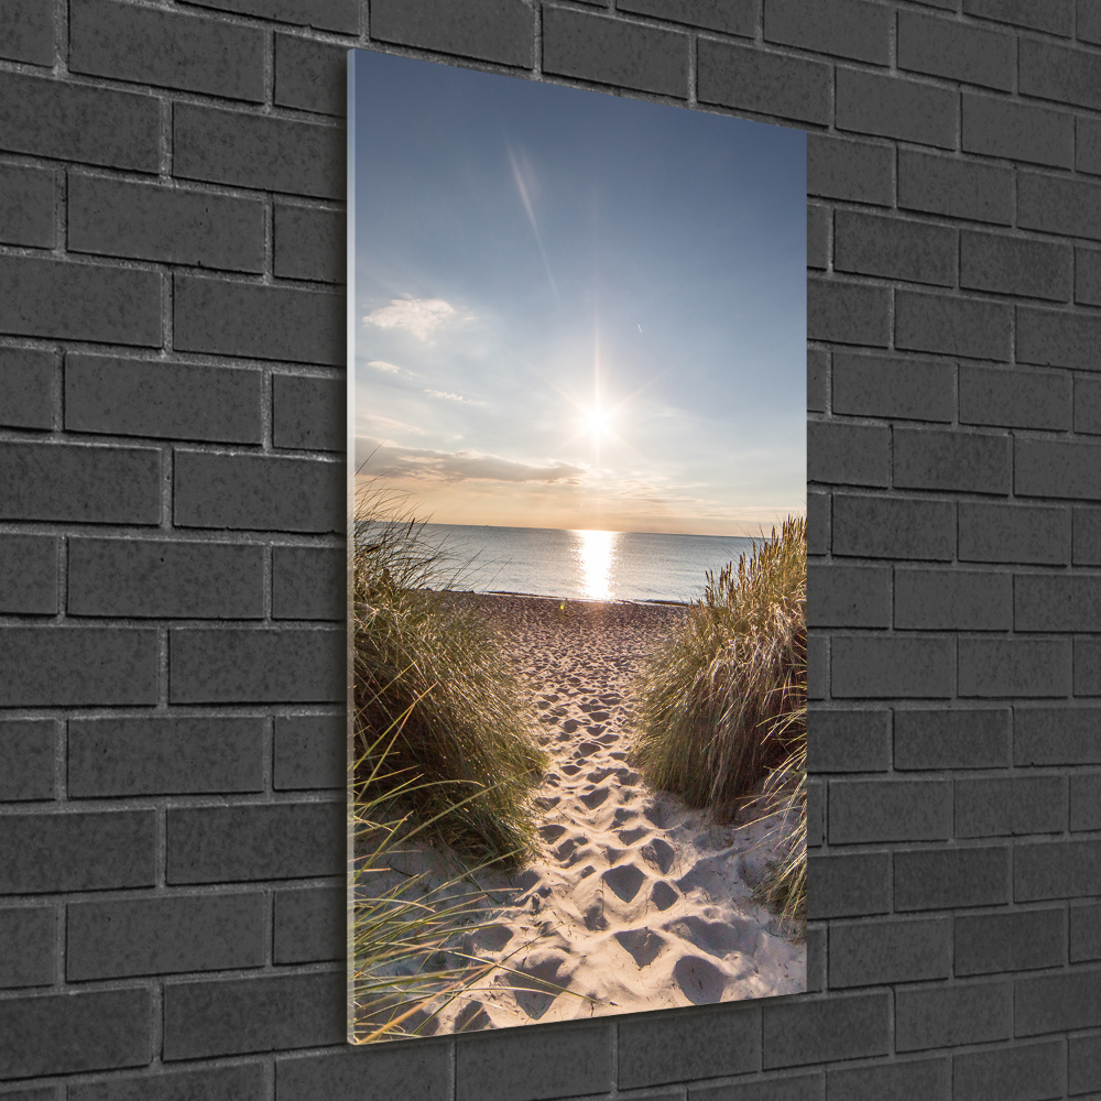
M1000 165L898 151L898 206L948 218L1009 226L1014 216L1014 178Z

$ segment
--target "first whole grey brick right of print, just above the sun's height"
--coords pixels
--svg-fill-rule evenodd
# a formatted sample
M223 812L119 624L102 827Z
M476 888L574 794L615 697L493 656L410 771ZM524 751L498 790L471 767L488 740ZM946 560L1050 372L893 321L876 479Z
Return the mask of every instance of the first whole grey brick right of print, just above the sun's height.
M956 368L935 359L833 353L832 407L853 416L952 419Z

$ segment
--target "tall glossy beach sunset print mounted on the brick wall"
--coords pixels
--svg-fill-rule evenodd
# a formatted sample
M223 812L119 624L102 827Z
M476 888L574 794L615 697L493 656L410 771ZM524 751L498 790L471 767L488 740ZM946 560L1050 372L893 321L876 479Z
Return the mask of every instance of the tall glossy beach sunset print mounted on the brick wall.
M348 83L349 1040L805 991L805 135Z

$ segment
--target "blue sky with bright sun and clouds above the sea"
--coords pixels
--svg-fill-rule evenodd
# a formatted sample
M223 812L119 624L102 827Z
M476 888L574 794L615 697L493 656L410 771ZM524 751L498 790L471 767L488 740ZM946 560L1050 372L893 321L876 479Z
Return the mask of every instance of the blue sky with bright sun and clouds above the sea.
M438 523L802 514L803 132L353 57L364 471Z

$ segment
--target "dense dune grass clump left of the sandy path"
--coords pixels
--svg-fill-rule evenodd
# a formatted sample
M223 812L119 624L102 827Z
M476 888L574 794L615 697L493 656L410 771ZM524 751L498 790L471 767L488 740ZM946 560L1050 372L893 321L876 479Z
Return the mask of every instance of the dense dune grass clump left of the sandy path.
M429 839L514 865L535 851L530 795L546 764L498 636L449 599L465 564L424 536L403 499L356 502L356 737L374 798L388 787ZM394 730L379 770L379 733ZM393 777L402 777L399 782ZM418 783L405 781L415 777Z

